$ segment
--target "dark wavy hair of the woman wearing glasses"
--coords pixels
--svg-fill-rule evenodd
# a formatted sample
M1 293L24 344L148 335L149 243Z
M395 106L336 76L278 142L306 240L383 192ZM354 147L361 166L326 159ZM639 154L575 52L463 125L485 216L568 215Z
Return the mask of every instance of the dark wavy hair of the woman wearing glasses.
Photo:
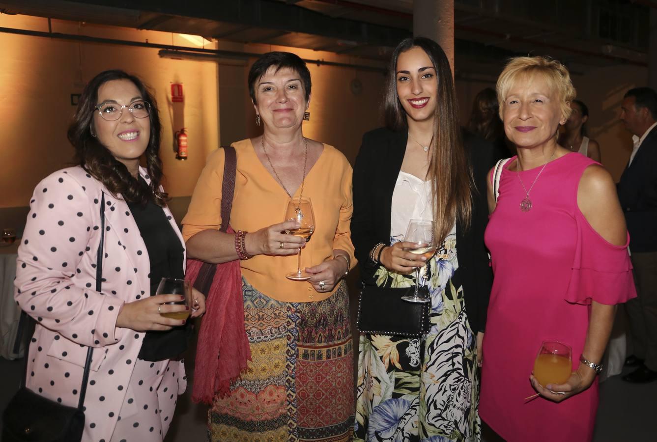
M150 103L150 134L144 153L150 186L133 177L125 165L116 160L100 141L91 135L91 121L96 112L98 90L107 81L127 79L141 97ZM166 206L169 196L160 190L162 160L160 160L160 115L154 96L139 78L122 70L106 70L93 77L82 91L73 121L68 127L68 141L75 148L75 160L91 176L100 181L115 197L119 194L127 202L147 204L153 200L158 206Z

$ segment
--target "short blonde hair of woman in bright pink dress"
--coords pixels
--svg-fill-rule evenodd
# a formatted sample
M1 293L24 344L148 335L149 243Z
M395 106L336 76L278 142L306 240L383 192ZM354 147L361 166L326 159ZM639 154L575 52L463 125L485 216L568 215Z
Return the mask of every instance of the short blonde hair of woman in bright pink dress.
M499 116L503 119L505 102L509 90L520 79L533 79L541 76L547 82L551 91L556 91L561 109L562 119L570 117L570 102L575 99L576 91L570 80L568 68L552 58L544 56L516 56L511 58L499 74L497 79L497 101L499 102Z

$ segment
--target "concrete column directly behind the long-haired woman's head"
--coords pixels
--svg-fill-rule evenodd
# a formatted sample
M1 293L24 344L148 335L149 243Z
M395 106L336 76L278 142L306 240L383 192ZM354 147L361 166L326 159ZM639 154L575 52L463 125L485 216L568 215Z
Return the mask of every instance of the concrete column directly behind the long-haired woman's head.
M413 0L413 35L438 42L454 72L454 0Z

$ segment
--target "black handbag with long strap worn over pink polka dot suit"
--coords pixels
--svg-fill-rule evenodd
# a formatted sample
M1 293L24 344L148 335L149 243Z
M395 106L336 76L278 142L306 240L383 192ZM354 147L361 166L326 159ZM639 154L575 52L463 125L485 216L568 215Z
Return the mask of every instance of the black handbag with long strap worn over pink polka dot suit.
M105 195L101 200L101 232L105 231ZM101 291L102 282L102 248L104 234L101 234L101 242L98 247L96 258L96 290ZM93 347L87 350L87 359L82 375L82 384L79 391L78 407L69 407L58 402L51 401L34 391L28 389L26 376L28 368L28 349L30 347L30 333L32 327L30 317L22 311L16 336L16 346L20 345L20 335L25 334L25 369L23 370L22 387L18 389L11 398L7 408L3 412L3 442L76 442L81 441L84 431L84 398L87 392L87 380L89 380L89 366Z

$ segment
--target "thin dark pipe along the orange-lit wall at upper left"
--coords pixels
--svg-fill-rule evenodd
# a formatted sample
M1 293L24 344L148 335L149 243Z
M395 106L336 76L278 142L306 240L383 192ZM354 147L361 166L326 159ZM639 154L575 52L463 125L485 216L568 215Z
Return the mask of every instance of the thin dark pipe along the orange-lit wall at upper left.
M259 53L249 53L244 51L225 51L223 49L202 49L202 48L193 48L193 47L183 47L175 45L162 45L160 43L148 43L148 41L131 41L131 40L120 40L112 38L102 38L102 37L91 37L90 35L76 35L72 33L60 33L60 32L41 32L41 31L32 31L25 29L15 29L15 28L0 28L0 33L13 33L17 35L29 35L30 37L44 37L51 39L60 39L68 41L83 41L85 43L99 43L102 45L120 45L120 46L131 46L131 47L147 47L150 49L162 49L166 51L166 56L168 58L175 58L173 55L176 53L181 55L180 58L191 58L193 54L205 55L206 58L260 58L262 54ZM190 56L191 55L191 56ZM336 68L350 68L350 69L359 69L371 72L386 72L386 68L378 66L367 66L365 64L353 64L353 63L342 63L326 60L313 60L309 58L302 58L304 62L309 64L316 64L317 66L334 66Z

